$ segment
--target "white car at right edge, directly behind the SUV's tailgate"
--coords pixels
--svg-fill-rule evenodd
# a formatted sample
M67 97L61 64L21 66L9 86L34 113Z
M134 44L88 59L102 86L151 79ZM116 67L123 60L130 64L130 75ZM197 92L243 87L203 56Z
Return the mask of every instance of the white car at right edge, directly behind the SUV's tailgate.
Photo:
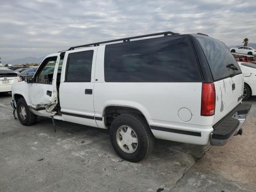
M256 65L252 63L238 62L244 75L243 100L256 95Z

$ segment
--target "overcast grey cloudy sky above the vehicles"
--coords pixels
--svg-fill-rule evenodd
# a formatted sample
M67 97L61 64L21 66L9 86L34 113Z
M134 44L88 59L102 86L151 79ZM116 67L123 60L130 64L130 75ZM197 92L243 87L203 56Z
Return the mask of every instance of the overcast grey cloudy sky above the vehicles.
M255 0L1 0L2 61L155 32L256 43Z

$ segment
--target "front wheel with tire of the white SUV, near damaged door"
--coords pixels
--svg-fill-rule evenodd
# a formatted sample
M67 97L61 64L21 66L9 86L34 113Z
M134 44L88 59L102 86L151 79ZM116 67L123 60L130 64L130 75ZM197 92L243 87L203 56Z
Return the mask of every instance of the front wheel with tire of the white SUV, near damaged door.
M25 126L35 124L37 115L33 114L26 103L24 98L20 98L17 102L17 115L20 123Z

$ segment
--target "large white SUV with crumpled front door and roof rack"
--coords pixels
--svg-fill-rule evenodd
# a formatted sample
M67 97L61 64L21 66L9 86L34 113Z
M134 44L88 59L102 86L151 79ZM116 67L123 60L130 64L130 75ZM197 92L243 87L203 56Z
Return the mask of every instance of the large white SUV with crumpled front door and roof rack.
M243 88L224 43L163 32L50 54L31 80L12 87L11 105L26 126L47 116L110 129L117 154L138 162L155 138L222 146L242 134L251 106L241 104Z

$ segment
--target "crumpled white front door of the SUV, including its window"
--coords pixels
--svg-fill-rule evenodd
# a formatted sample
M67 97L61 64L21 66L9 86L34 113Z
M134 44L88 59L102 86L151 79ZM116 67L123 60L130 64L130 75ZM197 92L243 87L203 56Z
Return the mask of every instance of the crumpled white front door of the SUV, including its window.
M53 116L58 97L56 90L56 76L61 73L58 69L59 56L45 58L36 71L28 89L30 108L39 116Z

